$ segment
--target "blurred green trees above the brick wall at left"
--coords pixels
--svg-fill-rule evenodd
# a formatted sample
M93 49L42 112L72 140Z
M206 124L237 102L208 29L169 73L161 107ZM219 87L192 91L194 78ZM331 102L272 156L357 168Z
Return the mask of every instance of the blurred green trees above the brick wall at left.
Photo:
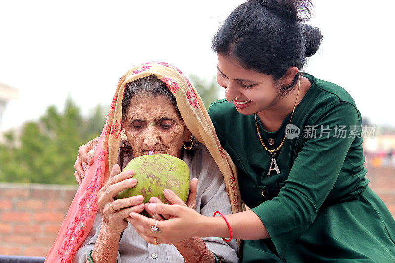
M18 138L5 134L0 144L0 181L75 184L77 149L101 133L104 112L98 105L84 118L67 98L63 113L50 106L38 122L26 123Z

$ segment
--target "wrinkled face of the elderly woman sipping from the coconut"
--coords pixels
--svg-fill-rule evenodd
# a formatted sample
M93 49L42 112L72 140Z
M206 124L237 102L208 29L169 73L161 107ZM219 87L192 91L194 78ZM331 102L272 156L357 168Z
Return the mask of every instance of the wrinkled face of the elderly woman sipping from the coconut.
M134 157L147 155L153 150L154 154L165 153L180 158L183 141L191 138L191 132L178 117L174 105L164 96L133 96L124 129Z

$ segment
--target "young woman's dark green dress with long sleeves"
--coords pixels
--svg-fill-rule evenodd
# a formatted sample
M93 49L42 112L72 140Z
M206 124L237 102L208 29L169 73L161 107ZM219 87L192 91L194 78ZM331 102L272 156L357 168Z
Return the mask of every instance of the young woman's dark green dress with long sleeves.
M210 105L222 147L239 169L242 200L270 235L244 240L242 261L393 263L395 222L365 178L361 114L343 88L304 76L312 85L291 122L300 133L276 152L279 174L268 175L271 157L254 115L225 100ZM266 147L269 138L281 144L290 118L276 132L257 118Z

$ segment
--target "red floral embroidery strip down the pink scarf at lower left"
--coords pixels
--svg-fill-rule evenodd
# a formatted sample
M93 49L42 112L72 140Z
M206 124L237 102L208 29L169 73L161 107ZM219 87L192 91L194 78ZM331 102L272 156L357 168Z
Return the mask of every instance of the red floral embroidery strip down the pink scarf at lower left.
M93 218L99 209L97 192L103 184L101 179L99 179L99 175L102 174L101 166L104 166L103 162L107 154L108 151L101 150L95 176L90 181L81 201L79 201L79 214L74 217L67 227L67 232L63 238L63 245L58 250L61 263L70 263L72 261L78 249L77 245L84 236L84 222L86 222L88 217Z

